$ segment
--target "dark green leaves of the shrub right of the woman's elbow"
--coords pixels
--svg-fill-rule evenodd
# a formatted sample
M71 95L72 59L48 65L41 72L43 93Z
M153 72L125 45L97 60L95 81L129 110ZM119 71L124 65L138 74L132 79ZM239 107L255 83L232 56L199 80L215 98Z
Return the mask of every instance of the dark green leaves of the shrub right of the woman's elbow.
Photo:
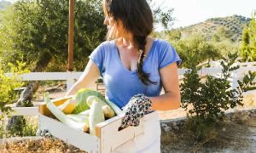
M239 66L233 66L237 54L229 54L221 62L223 67L222 77L216 78L207 76L205 82L197 74L197 68L192 67L191 71L184 75L181 84L182 107L187 111L188 116L195 121L216 122L224 116L224 111L242 105L242 93L255 88L253 80L256 72L250 72L242 81L239 87L231 88L228 81L231 71L235 71ZM248 88L249 86L249 88ZM190 105L193 107L190 109Z

